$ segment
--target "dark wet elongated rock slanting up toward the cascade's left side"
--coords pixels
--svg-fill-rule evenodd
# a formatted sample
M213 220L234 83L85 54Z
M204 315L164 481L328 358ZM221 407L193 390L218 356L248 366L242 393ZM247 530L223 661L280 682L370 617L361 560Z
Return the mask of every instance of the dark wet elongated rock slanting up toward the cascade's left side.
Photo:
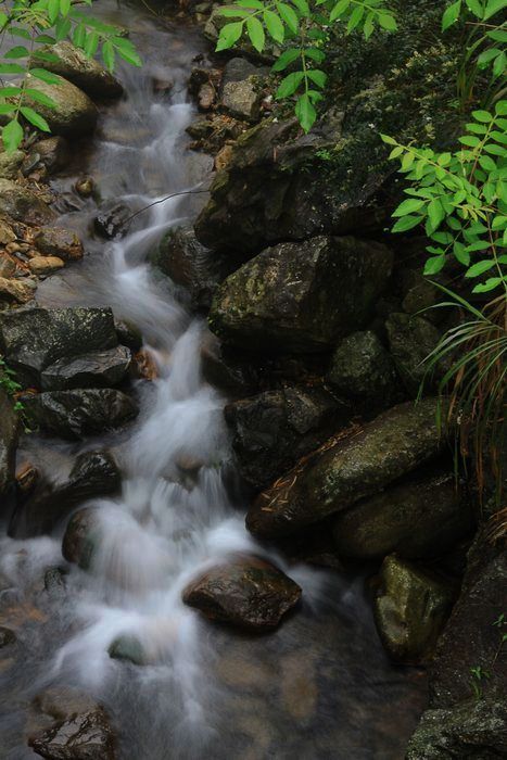
M114 458L98 449L80 454L61 484L42 483L18 504L9 535L29 539L49 533L72 509L97 496L119 490L122 477Z

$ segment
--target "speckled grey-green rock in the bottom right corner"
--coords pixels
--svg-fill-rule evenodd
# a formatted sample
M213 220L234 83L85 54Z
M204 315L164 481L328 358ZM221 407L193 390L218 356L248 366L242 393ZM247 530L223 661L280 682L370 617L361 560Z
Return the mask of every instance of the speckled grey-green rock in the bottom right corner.
M427 710L407 747L406 760L499 760L507 757L505 700L467 700Z

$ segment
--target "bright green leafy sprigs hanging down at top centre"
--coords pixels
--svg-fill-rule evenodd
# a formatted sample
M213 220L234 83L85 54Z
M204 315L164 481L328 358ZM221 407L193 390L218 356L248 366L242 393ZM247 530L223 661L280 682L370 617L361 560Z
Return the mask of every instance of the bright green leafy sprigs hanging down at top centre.
M376 29L395 31L397 28L385 0L316 0L315 3L308 0L237 0L219 12L238 21L223 27L217 51L231 48L244 33L259 53L266 48L266 37L276 45L284 45L272 66L275 73L283 73L276 97L279 100L295 97L295 115L305 131L315 123L316 105L322 100L327 74L321 65L326 61L332 25L340 22L347 35L362 31L366 39Z

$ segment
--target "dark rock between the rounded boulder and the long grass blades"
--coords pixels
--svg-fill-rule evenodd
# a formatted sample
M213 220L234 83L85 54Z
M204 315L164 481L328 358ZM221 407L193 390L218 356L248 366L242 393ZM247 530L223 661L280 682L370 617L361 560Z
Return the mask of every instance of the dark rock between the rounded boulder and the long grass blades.
M391 355L407 391L416 395L422 381L432 385L428 356L441 339L438 328L422 317L391 314L385 322Z

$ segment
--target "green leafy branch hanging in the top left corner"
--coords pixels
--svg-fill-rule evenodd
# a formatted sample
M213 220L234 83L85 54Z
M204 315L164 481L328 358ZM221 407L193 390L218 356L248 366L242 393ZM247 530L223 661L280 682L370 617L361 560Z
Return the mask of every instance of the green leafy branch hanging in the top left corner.
M83 0L87 5L92 0ZM115 26L103 24L80 10L81 0L14 0L7 12L0 13L0 42L7 36L22 40L9 48L0 60L0 76L16 76L14 83L0 87L0 117L7 119L2 140L8 151L14 151L23 140L22 119L42 131L50 131L47 121L37 112L37 104L54 107L46 93L30 87L30 77L58 85L60 77L45 68L45 63L58 62L51 46L69 39L92 58L100 50L110 72L118 55L140 66L141 60L130 40L121 36ZM34 107L35 106L35 107Z

